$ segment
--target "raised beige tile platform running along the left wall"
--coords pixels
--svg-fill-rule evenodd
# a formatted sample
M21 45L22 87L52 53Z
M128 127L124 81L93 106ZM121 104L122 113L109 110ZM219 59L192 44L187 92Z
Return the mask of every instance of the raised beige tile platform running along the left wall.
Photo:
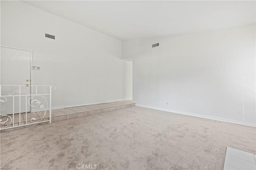
M117 109L124 109L126 107L132 107L135 106L135 103L132 103L132 100L126 100L126 101L116 101L116 102L110 102L110 103L100 103L96 105L85 105L85 106L79 106L79 107L69 107L64 109L56 109L52 110L52 123L57 121L64 121L67 119L73 119L77 117L84 117L87 115L94 115L97 113L103 113L108 111L114 111ZM48 114L47 114L48 113ZM49 120L49 111L47 111L46 115L42 119L43 114L34 114L34 113L27 113L27 124L30 124L31 118L36 118L38 120L42 119L41 121L47 121ZM14 127L19 125L19 118L21 120L21 125L26 124L26 114L21 113L21 117L19 117L19 114L14 115ZM10 115L12 117L12 115ZM6 117L1 117L2 121L6 121ZM7 122L8 123L8 122ZM48 123L48 122L46 122ZM42 123L40 123L42 124ZM17 129L17 128L24 128L24 127L30 127L30 126L36 126L39 124L34 125L26 125L22 127L16 127L16 128L10 128L10 129L2 129L5 125L1 124L1 132ZM8 127L12 127L12 125L9 125Z

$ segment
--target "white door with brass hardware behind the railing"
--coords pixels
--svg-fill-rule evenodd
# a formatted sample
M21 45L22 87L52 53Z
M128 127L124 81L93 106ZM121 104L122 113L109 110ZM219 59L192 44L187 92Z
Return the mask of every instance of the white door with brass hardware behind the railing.
M30 51L1 46L0 64L1 85L30 85ZM1 86L1 95L19 95L16 90L19 90L19 86ZM21 86L20 90L22 95L30 94L29 86ZM13 113L13 99L14 113L30 112L29 98L30 96L27 100L25 96L6 97L7 101L1 103L1 106L6 108L1 111L1 115Z

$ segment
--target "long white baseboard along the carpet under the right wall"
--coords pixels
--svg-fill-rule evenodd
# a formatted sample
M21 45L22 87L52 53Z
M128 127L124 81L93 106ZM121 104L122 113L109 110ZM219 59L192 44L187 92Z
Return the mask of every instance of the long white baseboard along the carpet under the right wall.
M189 116L194 116L194 117L200 117L200 118L205 118L205 119L212 119L212 120L215 120L215 121L222 121L222 122L235 123L235 124L245 125L245 126L250 126L250 127L256 127L256 124L248 123L248 122L235 121L235 120L223 119L223 118L211 117L211 116L205 116L205 115L198 115L198 114L195 114L195 113L188 113L188 112L182 112L182 111L174 111L174 110L171 110L171 109L163 109L163 108L159 108L159 107L151 107L151 106L146 106L146 105L138 105L138 104L136 104L136 106L146 107L146 108L149 108L149 109L155 109L155 110L159 110L159 111L178 113L178 114L182 114L182 115L189 115Z

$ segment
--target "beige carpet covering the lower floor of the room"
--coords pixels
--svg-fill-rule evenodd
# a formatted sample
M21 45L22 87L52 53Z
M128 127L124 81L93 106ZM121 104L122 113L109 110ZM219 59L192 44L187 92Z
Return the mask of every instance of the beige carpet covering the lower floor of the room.
M227 146L256 154L255 142L253 127L130 107L1 132L1 170L217 170Z

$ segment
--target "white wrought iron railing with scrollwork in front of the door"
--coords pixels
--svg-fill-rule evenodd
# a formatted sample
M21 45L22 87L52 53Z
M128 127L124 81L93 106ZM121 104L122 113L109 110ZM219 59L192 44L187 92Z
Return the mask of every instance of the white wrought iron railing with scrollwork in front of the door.
M53 85L0 85L0 130L51 123L55 89Z

